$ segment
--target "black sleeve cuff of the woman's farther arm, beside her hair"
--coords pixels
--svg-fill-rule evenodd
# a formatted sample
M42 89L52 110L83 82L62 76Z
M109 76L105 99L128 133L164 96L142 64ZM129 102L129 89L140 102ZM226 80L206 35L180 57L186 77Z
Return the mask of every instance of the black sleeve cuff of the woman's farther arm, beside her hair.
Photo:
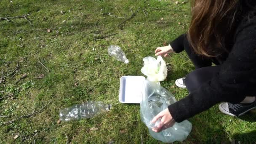
M180 53L184 50L184 40L187 39L187 34L182 34L179 37L177 37L175 40L169 42L171 47L173 48L173 51L176 53Z

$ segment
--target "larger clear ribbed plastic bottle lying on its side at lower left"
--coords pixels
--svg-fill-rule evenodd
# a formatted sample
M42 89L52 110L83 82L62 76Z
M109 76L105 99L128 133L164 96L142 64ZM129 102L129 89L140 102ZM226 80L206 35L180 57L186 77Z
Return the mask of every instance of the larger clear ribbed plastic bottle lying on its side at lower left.
M61 121L80 120L94 117L108 111L110 108L110 104L104 104L102 101L88 101L84 104L76 104L72 107L61 109L59 116Z

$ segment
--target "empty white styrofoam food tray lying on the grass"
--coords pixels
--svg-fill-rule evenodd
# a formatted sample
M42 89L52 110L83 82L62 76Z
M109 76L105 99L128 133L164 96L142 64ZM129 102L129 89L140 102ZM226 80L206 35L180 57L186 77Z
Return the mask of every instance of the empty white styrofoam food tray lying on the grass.
M119 101L121 103L139 104L142 99L142 86L145 77L123 76L120 78Z

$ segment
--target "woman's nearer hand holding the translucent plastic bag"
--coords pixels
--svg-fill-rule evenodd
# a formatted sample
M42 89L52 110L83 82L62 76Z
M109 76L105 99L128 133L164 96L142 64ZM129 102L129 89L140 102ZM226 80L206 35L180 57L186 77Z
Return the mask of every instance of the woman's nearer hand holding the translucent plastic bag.
M156 127L152 128L152 131L155 131L157 133L173 126L175 123L175 120L171 116L169 109L165 109L158 115L156 115L151 121L151 123L157 122L159 118L161 118L160 123Z

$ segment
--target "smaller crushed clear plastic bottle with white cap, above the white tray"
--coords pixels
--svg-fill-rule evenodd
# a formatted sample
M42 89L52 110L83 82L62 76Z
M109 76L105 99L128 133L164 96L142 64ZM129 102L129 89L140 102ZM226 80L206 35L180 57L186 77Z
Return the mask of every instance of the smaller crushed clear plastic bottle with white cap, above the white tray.
M129 60L126 58L123 50L117 45L110 45L108 47L109 56L115 57L118 61L123 61L125 64L129 63Z

